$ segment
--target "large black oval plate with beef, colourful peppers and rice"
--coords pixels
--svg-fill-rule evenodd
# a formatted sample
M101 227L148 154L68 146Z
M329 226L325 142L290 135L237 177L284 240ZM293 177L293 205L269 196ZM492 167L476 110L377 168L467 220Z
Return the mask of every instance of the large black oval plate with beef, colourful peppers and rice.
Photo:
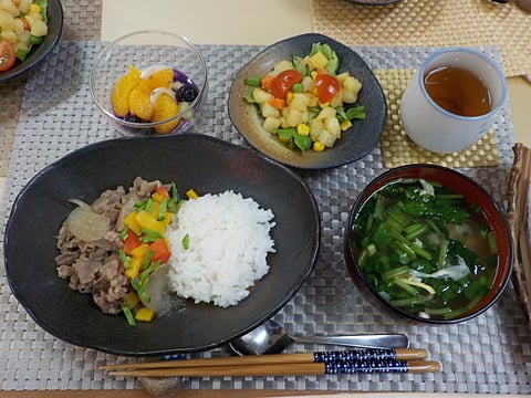
M40 171L13 203L4 262L14 296L55 337L166 355L217 347L271 317L313 271L319 244L298 175L181 134L96 143Z

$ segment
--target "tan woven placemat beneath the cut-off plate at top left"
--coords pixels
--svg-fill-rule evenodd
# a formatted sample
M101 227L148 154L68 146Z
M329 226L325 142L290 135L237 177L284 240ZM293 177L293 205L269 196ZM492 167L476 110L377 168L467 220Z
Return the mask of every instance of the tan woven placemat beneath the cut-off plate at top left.
M100 40L102 24L102 0L62 0L63 32L61 40ZM32 72L35 73L37 71ZM8 171L11 149L19 122L28 76L0 84L0 177Z

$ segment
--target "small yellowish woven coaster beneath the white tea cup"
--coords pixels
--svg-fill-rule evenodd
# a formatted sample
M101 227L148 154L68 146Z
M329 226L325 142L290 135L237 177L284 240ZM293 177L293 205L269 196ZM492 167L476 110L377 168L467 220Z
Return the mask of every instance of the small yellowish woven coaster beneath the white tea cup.
M498 166L500 153L493 128L475 145L452 154L436 154L416 145L406 135L399 117L400 98L417 70L375 70L387 98L388 117L382 134L382 153L385 167L392 168L414 163L428 163L448 167Z

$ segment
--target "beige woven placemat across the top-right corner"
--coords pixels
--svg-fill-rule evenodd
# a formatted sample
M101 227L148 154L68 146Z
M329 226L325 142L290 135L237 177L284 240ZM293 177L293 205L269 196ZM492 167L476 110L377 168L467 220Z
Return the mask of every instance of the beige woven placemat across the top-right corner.
M313 30L351 45L498 45L507 76L531 73L531 14L513 2L403 0L367 7L312 0Z

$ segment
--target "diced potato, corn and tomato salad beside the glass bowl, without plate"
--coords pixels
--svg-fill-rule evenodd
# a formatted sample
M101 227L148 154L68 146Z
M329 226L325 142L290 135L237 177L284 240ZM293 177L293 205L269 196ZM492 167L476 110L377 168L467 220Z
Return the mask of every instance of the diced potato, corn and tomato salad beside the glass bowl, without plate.
M313 43L306 56L279 62L264 76L249 76L246 101L256 104L263 128L299 150L322 151L341 139L354 119L364 119L357 101L362 83L337 73L340 60L327 44Z

